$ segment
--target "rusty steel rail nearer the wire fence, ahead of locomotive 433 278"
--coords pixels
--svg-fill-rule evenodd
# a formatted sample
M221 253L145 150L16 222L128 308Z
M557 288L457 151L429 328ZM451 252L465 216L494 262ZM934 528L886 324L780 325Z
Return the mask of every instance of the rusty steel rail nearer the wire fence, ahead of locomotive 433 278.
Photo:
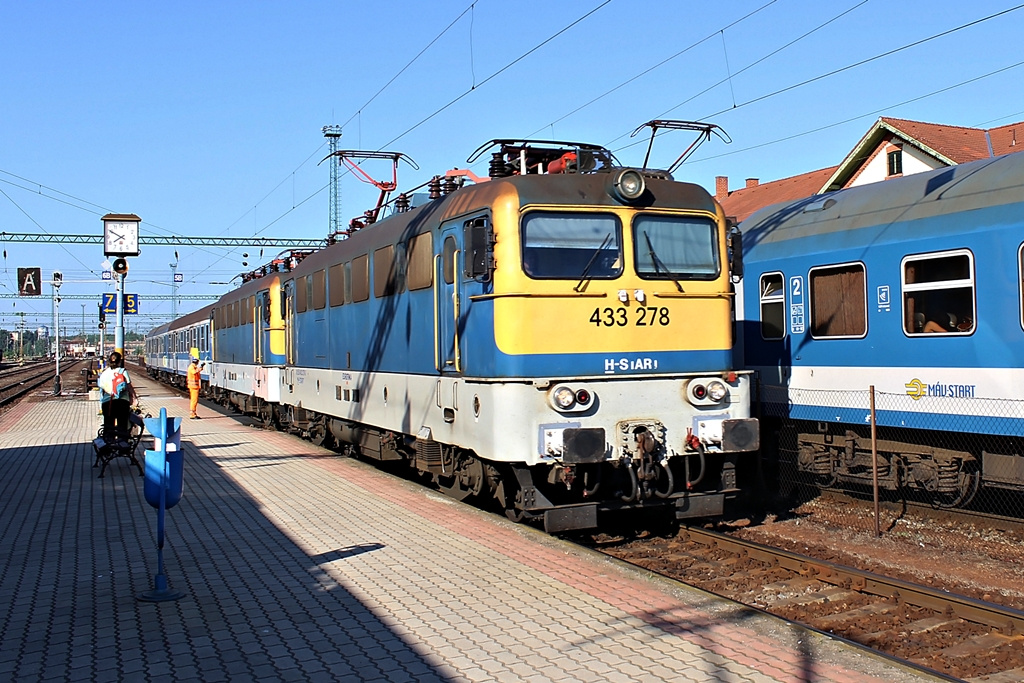
M998 629L1006 635L1024 633L1024 611L1020 609L854 569L752 541L733 539L708 529L686 528L682 533L701 545L719 548L740 557L750 557L769 566L790 569L826 584L952 614L967 622Z

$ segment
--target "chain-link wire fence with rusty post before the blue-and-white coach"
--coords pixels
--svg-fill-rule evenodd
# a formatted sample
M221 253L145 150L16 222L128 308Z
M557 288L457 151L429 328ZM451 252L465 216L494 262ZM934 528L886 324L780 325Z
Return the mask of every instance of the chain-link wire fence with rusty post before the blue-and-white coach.
M877 497L887 509L915 502L1024 519L1024 400L973 389L762 387L769 496L794 505L838 488ZM878 515L868 523L880 523Z

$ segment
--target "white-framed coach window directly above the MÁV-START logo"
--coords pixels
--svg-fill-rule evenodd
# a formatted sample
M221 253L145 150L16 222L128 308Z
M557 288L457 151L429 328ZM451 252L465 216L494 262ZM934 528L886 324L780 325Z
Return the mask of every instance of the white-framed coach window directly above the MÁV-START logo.
M949 251L903 259L903 331L969 335L975 328L974 256Z

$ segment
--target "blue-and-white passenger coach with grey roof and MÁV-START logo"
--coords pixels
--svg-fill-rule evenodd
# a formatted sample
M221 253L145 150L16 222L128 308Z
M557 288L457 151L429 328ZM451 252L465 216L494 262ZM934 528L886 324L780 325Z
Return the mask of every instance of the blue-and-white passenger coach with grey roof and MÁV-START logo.
M1024 490L1022 190L1014 154L743 221L743 355L783 466L870 485L873 386L883 488Z

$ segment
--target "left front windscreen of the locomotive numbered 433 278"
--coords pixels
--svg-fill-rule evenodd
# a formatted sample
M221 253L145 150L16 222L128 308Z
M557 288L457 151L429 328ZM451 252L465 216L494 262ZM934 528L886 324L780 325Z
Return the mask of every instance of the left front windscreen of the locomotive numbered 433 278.
M617 278L622 232L610 213L532 211L522 218L522 268L535 279Z

